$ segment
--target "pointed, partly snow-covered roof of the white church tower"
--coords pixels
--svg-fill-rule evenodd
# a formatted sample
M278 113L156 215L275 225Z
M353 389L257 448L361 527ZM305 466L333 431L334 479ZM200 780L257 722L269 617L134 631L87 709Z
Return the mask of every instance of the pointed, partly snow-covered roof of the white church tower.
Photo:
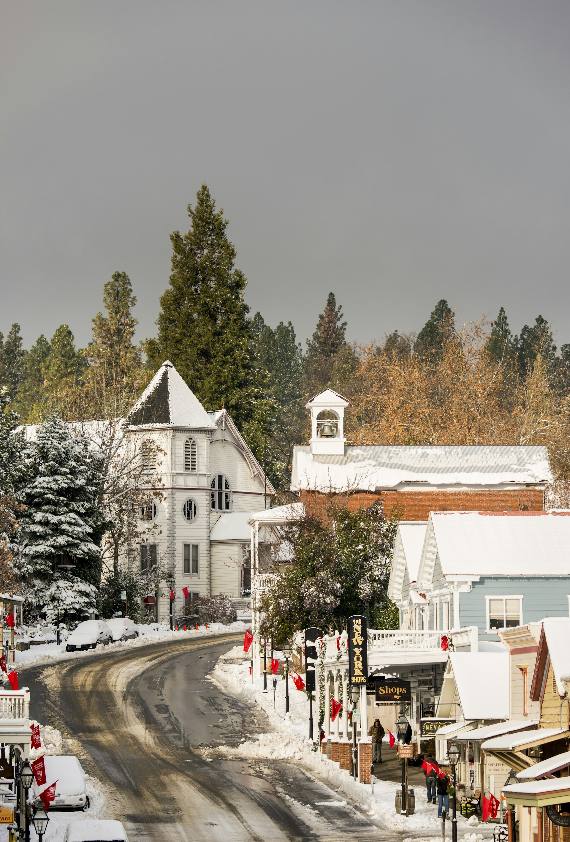
M129 415L132 427L216 429L198 398L173 364L162 363Z

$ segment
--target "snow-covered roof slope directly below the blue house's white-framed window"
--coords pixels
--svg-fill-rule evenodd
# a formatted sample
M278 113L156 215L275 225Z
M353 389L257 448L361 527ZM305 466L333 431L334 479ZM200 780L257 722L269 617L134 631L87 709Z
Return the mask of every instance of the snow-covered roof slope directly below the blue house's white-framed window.
M466 719L509 717L509 654L452 652L451 669ZM489 692L489 687L493 692Z

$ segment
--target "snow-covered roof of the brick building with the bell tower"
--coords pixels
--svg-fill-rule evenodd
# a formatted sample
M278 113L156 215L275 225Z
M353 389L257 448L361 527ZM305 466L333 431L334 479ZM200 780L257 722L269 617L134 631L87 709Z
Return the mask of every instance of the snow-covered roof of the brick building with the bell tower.
M291 489L374 491L401 484L471 488L551 479L546 447L535 445L350 445L344 455L315 455L310 447L296 447Z

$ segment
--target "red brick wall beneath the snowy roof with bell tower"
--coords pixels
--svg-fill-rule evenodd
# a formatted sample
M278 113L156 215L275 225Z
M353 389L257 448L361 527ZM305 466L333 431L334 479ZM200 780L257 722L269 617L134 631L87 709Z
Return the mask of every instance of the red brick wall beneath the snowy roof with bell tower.
M306 495L301 493L301 499ZM340 496L340 495L339 495ZM317 499L328 495L317 493ZM343 495L344 498L344 495ZM429 512L541 512L544 509L544 492L541 488L503 489L501 491L435 491L410 489L409 491L376 491L349 495L348 509L371 506L376 500L384 501L386 514L393 507L403 509L401 520L428 520Z

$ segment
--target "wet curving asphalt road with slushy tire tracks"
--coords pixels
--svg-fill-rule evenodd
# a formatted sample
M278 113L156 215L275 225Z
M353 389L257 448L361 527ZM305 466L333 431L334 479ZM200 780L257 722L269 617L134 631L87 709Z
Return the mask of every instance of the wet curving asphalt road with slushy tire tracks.
M205 676L237 640L155 643L21 671L31 715L75 738L88 771L116 788L116 818L149 840L389 840L360 807L286 761L202 758L270 730L255 706ZM276 738L279 738L276 735ZM392 837L395 839L395 837Z

